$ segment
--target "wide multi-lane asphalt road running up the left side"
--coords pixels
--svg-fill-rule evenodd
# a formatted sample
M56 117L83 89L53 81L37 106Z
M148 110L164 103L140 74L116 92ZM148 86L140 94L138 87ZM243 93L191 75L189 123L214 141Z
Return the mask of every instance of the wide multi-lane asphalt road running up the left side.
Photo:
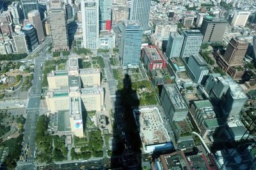
M39 58L39 59L38 59ZM35 59L32 87L29 94L27 118L24 125L24 143L22 147L22 159L18 161L17 169L35 169L35 135L36 123L40 113L41 81L43 63L47 59L44 52Z

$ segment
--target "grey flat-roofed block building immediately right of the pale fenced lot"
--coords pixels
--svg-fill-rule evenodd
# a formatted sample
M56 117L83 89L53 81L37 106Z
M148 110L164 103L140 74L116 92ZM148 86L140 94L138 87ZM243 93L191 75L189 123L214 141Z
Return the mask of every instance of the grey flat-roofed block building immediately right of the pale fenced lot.
M175 84L163 85L160 102L164 113L172 121L185 120L188 115L188 106L182 98L178 87Z

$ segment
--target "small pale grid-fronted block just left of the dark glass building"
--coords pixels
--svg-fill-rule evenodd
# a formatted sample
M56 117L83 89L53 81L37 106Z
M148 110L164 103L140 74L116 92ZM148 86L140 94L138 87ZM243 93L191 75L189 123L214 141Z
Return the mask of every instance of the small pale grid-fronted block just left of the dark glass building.
M22 32L18 35L12 36L15 45L16 53L28 53L28 45L26 35Z

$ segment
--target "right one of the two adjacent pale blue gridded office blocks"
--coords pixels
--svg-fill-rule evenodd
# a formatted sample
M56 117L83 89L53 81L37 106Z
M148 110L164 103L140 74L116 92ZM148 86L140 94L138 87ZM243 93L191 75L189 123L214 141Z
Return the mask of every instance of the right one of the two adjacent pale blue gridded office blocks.
M202 40L204 36L198 30L187 30L183 31L184 41L182 45L182 50L180 53L180 57L189 57L190 55L198 55L200 50L200 46L202 44Z

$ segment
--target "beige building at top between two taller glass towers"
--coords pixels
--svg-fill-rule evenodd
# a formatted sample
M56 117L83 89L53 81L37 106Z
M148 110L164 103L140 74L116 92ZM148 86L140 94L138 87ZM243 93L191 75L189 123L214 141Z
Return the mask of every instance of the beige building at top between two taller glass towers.
M112 7L112 24L129 19L129 7L113 6Z

